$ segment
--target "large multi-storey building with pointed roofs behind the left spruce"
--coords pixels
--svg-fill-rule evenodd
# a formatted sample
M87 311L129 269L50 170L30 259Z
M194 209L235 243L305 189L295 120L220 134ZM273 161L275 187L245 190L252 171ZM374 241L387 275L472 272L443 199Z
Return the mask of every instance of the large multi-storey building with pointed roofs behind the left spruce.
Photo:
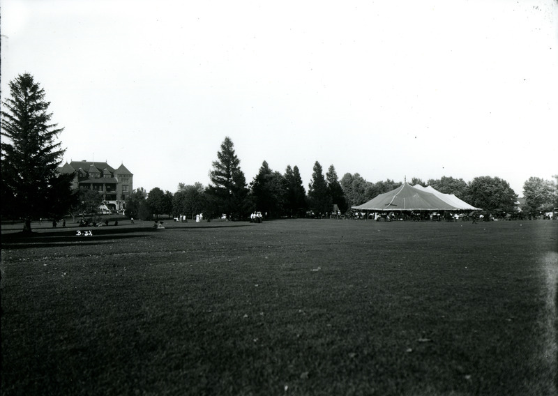
M105 205L115 211L133 190L133 174L122 164L114 169L107 162L70 161L59 167L60 174L74 174L72 188L96 190L103 195Z

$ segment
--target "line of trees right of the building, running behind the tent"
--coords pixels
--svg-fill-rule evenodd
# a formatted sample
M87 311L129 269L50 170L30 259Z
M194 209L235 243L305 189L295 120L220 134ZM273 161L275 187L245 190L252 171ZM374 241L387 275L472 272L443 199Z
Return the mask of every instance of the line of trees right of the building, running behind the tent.
M188 215L205 213L212 217L223 214L230 220L248 218L249 213L260 211L268 218L304 217L331 214L333 205L342 213L352 206L363 204L379 194L400 187L402 182L391 179L372 183L360 174L347 173L338 178L333 165L326 174L322 165L315 162L308 192L304 188L299 168L287 165L285 173L274 171L264 161L254 179L247 184L240 168L240 160L234 152L234 144L229 137L221 144L210 172L211 184L204 188L195 185L179 184L172 194L154 188L149 193L140 189L135 191L127 204L127 214L140 218L152 215ZM525 181L524 195L527 206L524 211L551 211L558 207L558 176L556 181L545 181L531 177ZM439 179L412 178L412 185L431 185L439 192L453 194L473 206L485 211L512 212L518 195L502 178L479 176L467 183L462 178L442 176ZM144 208L144 215L139 211Z

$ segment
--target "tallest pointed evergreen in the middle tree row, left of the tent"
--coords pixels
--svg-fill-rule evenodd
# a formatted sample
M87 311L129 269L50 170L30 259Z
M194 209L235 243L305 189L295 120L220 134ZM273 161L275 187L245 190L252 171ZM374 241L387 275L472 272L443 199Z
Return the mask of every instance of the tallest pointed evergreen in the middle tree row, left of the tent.
M225 137L213 170L209 172L211 184L207 188L209 205L213 215L226 213L229 218L248 215L248 188L246 177L240 169L240 160L234 153L234 144Z

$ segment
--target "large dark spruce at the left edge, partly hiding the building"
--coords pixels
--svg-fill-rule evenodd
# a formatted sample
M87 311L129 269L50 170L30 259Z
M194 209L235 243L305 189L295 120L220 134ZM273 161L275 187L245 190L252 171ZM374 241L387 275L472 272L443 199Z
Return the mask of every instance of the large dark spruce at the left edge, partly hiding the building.
M55 139L63 128L50 123L45 90L28 73L8 86L1 112L1 213L23 218L27 234L31 219L68 213L76 195L70 190L73 174L57 172L65 150Z

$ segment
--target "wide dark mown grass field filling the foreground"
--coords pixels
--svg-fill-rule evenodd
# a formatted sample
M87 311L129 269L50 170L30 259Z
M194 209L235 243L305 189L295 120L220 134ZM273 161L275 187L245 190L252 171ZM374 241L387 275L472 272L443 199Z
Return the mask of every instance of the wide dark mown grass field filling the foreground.
M556 394L558 221L121 224L3 227L3 395Z

